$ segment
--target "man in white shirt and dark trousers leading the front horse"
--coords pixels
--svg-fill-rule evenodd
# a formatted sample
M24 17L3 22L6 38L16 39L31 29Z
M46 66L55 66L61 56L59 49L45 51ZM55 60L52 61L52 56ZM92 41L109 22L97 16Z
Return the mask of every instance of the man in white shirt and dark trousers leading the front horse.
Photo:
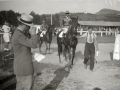
M96 34L92 31L92 28L88 28L88 32L80 36L80 38L85 37L85 51L84 51L84 66L87 68L87 62L90 59L90 70L92 71L94 68L94 59L95 59L95 51L99 51L98 43L96 40ZM95 50L96 49L96 50Z

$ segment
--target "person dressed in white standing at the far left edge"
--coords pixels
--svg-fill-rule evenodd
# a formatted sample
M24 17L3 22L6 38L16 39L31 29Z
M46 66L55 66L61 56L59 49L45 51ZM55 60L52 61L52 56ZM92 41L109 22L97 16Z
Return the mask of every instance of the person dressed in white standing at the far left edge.
M4 31L3 39L4 39L4 51L9 51L9 42L10 42L10 23L8 21L2 27Z

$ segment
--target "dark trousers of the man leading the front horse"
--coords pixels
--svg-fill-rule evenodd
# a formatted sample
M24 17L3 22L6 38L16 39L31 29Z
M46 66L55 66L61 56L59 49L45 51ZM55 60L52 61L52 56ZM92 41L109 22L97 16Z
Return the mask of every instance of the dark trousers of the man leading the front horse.
M84 51L84 64L87 64L88 60L90 59L90 70L94 68L94 59L95 59L95 46L94 43L87 43L85 44L85 51Z

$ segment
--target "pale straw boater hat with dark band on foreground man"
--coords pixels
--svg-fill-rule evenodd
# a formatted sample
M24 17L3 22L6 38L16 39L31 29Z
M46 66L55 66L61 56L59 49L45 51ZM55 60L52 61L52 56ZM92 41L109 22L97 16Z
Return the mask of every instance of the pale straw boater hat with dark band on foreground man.
M20 17L17 18L21 23L28 25L28 26L33 26L33 16L29 14L21 14Z

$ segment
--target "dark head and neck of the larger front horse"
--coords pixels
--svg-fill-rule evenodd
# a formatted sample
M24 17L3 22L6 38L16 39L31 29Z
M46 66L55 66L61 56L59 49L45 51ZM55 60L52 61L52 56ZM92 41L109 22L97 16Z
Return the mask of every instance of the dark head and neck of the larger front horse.
M78 17L77 18L75 18L75 17L72 17L71 18L71 25L70 25L70 33L71 34L77 34L77 28L78 28Z

